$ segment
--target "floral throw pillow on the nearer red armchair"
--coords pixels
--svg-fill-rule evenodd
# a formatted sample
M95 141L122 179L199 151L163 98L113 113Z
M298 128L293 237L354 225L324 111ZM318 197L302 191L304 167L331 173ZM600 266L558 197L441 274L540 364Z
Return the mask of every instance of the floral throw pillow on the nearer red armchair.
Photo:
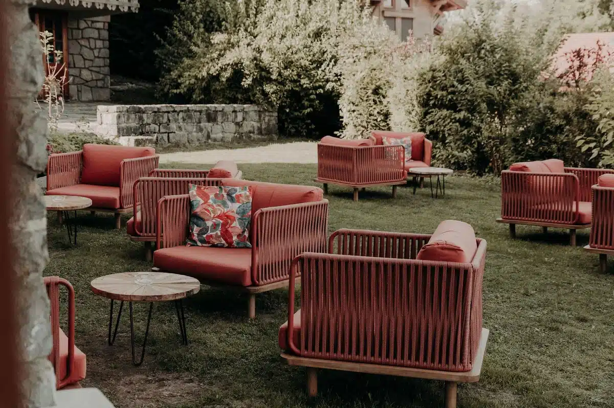
M190 184L187 246L251 248L252 188Z

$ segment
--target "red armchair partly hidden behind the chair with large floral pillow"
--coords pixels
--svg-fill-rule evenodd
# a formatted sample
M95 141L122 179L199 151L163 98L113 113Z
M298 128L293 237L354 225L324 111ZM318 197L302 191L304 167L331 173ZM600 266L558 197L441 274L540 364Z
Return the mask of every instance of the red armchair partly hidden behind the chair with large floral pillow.
M154 169L150 177L141 177L134 183L133 216L126 223L126 233L131 241L145 243L146 258L151 261L158 200L163 196L185 194L190 184L220 185L223 178L232 175L239 178L242 173L235 162L227 160L218 161L210 170Z

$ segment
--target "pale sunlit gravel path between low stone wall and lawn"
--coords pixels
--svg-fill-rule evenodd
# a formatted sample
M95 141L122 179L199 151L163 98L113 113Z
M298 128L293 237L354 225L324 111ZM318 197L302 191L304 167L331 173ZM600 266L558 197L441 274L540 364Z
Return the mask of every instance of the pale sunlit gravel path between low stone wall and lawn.
M225 150L201 150L160 155L160 163L212 164L218 160L236 163L317 163L316 142L293 142Z

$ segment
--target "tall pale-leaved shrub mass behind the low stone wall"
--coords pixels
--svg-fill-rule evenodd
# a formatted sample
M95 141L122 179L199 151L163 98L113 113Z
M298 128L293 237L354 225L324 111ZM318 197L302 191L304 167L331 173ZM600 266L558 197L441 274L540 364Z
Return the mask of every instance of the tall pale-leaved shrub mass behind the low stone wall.
M415 47L400 44L364 2L243 0L225 7L223 29L195 35L182 61L169 64L166 83L176 85L169 92L277 109L280 131L290 136L342 128L341 136L364 137L391 128L391 119L398 129L416 126L414 104L403 101L411 100L414 70L405 64L418 60ZM177 21L193 18L184 8Z

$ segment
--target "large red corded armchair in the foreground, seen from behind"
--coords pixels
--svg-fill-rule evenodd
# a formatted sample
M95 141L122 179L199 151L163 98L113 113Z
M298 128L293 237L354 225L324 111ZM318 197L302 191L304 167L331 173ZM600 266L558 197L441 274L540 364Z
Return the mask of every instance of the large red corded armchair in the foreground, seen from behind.
M282 358L307 368L310 396L317 369L336 369L444 380L445 406L456 407L457 383L480 379L488 341L485 256L486 241L461 221L433 235L336 231L327 254L292 263Z

